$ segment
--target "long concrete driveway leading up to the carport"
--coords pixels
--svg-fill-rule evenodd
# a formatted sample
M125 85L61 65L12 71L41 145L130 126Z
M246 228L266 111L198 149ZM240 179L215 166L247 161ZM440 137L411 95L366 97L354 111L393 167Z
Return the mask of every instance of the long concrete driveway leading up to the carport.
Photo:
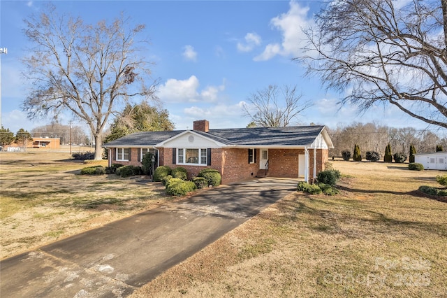
M1 297L125 297L263 208L296 180L215 187L0 262Z

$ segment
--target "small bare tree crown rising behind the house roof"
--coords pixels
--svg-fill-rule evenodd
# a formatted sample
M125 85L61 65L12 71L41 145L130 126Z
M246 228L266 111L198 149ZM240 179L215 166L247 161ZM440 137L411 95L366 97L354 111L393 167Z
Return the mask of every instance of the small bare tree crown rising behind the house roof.
M296 86L277 87L270 85L250 95L249 105L244 105L245 115L258 127L286 127L312 106L310 101L302 102Z

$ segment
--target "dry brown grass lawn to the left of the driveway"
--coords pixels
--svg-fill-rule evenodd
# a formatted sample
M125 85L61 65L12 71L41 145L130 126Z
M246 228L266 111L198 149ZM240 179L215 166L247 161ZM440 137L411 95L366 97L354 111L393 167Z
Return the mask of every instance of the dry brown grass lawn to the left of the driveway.
M171 200L145 176L77 175L85 166L68 152L0 152L0 259Z

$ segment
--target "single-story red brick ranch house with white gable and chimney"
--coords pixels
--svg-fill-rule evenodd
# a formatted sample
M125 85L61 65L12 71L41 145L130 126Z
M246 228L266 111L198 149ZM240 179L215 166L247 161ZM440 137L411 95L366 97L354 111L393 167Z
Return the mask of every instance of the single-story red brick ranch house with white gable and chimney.
M209 129L207 120L193 122L193 130L136 132L105 143L109 166L141 165L150 152L159 166L182 166L188 178L201 169L221 173L222 184L254 176L313 180L333 148L324 126Z

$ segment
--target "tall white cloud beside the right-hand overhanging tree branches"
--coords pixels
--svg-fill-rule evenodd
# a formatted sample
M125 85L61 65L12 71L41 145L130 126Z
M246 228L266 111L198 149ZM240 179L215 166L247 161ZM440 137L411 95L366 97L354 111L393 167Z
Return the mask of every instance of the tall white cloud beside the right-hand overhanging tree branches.
M299 3L291 1L287 13L273 17L270 24L274 29L281 31L282 42L266 45L264 52L256 56L254 61L265 61L275 55L298 55L306 39L302 29L313 24L312 17L309 18L308 13L309 7L301 7Z

